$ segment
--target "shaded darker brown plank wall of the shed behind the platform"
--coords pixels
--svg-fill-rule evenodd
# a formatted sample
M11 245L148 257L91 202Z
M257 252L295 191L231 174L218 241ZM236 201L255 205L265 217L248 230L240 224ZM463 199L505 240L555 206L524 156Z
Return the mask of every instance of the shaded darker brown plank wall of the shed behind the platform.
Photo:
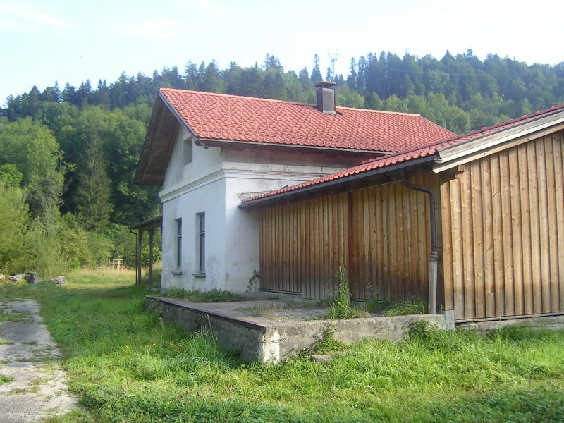
M433 188L439 200L439 176L410 182ZM440 216L437 206L439 231ZM343 260L354 298L427 300L429 226L427 194L400 182L261 209L261 288L332 298Z

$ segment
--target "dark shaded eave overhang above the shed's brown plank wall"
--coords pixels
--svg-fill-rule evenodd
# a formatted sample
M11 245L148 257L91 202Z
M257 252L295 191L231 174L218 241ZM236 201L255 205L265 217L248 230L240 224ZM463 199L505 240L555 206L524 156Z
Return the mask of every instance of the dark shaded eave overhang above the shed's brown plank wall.
M369 188L376 185L384 185L387 183L395 183L401 180L400 171L409 170L410 172L431 171L431 168L439 157L436 154L427 157L421 157L410 161L403 161L391 166L376 168L372 171L365 171L344 178L329 180L325 183L306 186L288 192L271 195L269 197L257 198L239 204L241 209L259 209L262 207L271 207L275 204L283 204L287 202L295 202L306 198L318 197L321 195L332 194L343 191L354 191L363 188Z

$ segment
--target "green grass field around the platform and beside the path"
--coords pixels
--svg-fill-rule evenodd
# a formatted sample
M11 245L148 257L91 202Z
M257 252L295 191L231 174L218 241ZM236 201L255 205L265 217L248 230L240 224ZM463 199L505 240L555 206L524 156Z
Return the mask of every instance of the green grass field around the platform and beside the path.
M145 312L133 273L80 272L36 298L86 409L53 422L562 422L564 332L422 331L333 360L248 364ZM1 366L0 366L1 373Z

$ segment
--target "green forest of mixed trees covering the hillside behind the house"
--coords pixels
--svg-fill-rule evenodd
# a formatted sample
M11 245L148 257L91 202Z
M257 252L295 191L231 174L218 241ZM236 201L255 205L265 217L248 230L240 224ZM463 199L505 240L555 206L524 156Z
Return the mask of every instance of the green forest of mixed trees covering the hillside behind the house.
M160 87L313 104L314 84L331 80L339 106L417 113L455 133L564 103L564 62L382 51L351 59L346 76L322 72L319 62L315 55L310 71L296 72L270 54L223 70L189 61L183 70L123 73L95 87L34 85L8 97L0 108L0 273L55 276L110 257L133 265L128 225L160 213L158 188L132 182Z

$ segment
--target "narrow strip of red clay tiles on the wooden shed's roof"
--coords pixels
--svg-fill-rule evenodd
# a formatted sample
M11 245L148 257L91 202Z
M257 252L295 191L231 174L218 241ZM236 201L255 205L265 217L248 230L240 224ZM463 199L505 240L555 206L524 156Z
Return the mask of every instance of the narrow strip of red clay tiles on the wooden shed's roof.
M331 180L338 180L341 178L346 178L348 176L354 176L359 173L366 173L369 171L374 171L379 168L386 168L388 166L404 163L406 161L413 161L415 159L429 157L441 151L442 149L445 149L446 147L461 144L462 142L467 142L470 140L475 140L476 138L484 137L486 135L498 133L501 130L505 130L508 128L512 128L513 126L521 125L523 123L526 123L527 121L534 121L537 118L541 118L545 115L552 114L556 111L560 111L563 109L564 109L564 104L560 106L553 106L550 109L537 111L534 114L529 114L529 115L521 116L520 118L511 119L510 121L498 123L496 125L482 128L481 130L474 130L470 133L459 135L458 137L451 137L447 140L434 142L424 147L419 147L417 149L410 149L405 152L388 154L383 157L367 160L358 166L345 169L344 171L331 173L331 175L322 176L321 178L307 180L306 182L302 182L297 185L291 185L287 188L282 188L280 190L275 190L271 192L266 192L262 195L257 195L255 197L245 200L243 204L255 200L260 200L266 197L273 197L274 195L285 194L286 192L288 193L293 192L295 190L300 190L301 188L308 188L314 185L322 185L324 183L328 183Z

